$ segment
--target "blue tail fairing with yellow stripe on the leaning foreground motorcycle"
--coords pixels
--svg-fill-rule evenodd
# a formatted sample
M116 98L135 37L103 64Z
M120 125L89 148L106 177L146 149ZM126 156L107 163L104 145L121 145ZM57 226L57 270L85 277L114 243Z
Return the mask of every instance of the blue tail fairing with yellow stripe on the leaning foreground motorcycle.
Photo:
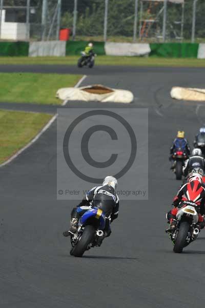
M93 222L95 226L98 226L101 230L105 228L105 215L99 208L92 208L87 210L86 213L80 218L81 224Z

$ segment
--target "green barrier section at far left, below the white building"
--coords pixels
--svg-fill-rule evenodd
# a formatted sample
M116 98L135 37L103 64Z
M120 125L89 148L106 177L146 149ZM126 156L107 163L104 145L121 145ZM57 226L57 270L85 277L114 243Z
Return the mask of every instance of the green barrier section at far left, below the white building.
M0 56L28 56L28 42L0 42Z

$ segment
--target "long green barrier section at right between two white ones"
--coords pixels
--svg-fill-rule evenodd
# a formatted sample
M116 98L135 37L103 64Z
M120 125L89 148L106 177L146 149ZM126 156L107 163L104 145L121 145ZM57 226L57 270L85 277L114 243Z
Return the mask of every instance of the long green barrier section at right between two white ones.
M151 43L149 56L197 58L198 46L197 43Z

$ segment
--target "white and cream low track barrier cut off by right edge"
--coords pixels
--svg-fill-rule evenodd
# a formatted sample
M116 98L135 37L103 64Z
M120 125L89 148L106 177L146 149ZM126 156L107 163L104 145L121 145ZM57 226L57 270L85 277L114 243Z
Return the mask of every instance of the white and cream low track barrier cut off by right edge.
M205 89L173 87L170 94L176 100L205 101Z

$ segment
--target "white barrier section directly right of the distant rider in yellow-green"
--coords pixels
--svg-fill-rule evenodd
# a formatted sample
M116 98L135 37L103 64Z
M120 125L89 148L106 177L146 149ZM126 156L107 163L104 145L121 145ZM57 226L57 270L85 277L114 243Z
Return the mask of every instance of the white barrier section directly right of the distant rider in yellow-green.
M151 52L150 44L144 43L112 43L106 42L105 51L107 55L148 55Z

